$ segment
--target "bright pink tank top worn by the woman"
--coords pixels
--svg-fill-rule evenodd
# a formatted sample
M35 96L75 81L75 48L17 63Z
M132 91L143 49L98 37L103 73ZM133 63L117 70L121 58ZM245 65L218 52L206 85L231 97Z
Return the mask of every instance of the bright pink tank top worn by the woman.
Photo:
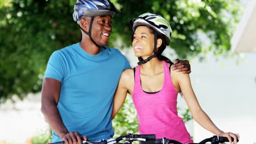
M135 72L135 86L132 99L138 113L139 133L155 134L156 139L166 137L182 143L193 142L177 112L177 91L173 86L170 71L165 61L164 85L154 94L143 91L140 79L140 65Z

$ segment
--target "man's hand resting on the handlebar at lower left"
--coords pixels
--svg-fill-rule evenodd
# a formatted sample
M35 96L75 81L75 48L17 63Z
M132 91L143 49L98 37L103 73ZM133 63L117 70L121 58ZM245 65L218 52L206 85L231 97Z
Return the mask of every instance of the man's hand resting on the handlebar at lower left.
M64 141L65 144L73 144L73 143L79 143L82 144L83 140L88 140L87 136L82 136L77 131L75 132L69 132L66 135L61 137L61 141Z

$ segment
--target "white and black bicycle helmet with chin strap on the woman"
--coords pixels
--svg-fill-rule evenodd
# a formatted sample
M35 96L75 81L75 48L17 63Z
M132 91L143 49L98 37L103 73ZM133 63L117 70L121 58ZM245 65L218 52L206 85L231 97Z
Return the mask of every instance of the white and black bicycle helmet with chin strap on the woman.
M150 59L158 57L158 55L161 55L161 52L164 51L166 45L170 45L172 28L164 17L158 14L144 13L137 18L131 19L129 22L132 26L133 32L135 32L138 26L148 26L154 30L154 54L147 59L138 57L138 65L147 63ZM162 40L164 40L166 44L165 46L161 46L161 52L156 52L156 41L158 39L157 34L160 34L161 37L163 37Z

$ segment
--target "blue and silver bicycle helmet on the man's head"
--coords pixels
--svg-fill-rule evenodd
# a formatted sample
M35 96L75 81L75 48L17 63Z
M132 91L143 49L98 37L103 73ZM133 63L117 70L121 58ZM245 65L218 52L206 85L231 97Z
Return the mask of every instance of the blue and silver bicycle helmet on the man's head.
M93 17L101 15L114 16L120 10L115 8L114 4L109 0L77 0L74 5L73 19L78 21L81 16Z

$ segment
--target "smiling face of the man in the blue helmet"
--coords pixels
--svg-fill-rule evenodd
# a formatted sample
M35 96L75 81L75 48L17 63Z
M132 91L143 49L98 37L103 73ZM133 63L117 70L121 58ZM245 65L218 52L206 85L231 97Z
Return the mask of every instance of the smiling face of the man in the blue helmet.
M100 46L108 45L108 39L112 32L112 17L96 16L91 27L91 37Z

